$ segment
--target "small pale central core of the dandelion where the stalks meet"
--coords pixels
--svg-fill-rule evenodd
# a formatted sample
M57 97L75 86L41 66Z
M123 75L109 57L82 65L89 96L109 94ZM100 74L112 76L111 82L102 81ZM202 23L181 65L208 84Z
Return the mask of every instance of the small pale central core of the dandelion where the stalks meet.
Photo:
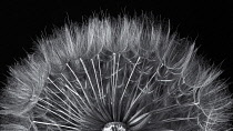
M121 122L107 123L102 131L126 131L125 124Z

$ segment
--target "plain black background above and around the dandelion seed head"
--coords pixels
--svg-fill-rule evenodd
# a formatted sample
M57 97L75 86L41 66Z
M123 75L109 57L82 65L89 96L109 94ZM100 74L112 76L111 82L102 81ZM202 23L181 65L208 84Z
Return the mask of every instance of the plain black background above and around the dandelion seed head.
M94 2L93 2L94 1ZM135 12L153 13L169 19L179 34L196 41L199 54L211 63L221 64L222 78L233 82L233 3L171 0L9 0L1 2L0 81L6 82L8 66L33 52L33 41L65 21L81 23L93 13L111 16ZM3 85L2 83L0 84ZM232 85L231 85L232 87ZM232 87L233 88L233 87ZM232 89L231 89L232 90Z

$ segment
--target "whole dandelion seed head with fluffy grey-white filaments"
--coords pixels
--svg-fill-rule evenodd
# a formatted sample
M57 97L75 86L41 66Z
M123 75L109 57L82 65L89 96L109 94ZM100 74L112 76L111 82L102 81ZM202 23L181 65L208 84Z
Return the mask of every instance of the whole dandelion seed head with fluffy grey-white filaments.
M10 68L1 130L225 131L232 99L194 43L150 18L92 18Z

